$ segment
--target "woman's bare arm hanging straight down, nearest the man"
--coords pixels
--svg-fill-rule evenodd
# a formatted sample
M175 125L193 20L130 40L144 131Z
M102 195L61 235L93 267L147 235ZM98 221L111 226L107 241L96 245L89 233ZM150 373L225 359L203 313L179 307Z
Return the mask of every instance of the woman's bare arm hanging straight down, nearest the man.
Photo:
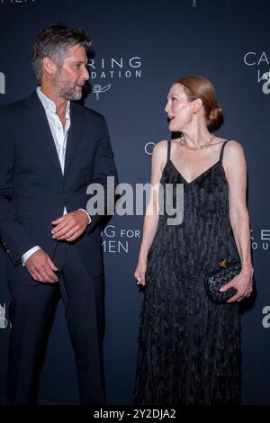
M148 251L157 232L158 224L158 184L166 164L167 141L160 141L155 146L152 156L151 192L143 223L143 236L139 249L139 260L135 270L135 278L145 285L145 273L148 263Z

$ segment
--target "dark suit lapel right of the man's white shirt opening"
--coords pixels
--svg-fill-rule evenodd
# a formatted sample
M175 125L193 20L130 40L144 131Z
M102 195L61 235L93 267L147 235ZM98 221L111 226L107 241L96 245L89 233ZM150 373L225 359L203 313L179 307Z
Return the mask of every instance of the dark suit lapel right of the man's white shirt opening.
M83 127L85 119L79 113L79 107L74 103L70 103L70 128L67 134L67 151L65 158L64 176L66 177L68 169L76 154L78 144L82 139Z

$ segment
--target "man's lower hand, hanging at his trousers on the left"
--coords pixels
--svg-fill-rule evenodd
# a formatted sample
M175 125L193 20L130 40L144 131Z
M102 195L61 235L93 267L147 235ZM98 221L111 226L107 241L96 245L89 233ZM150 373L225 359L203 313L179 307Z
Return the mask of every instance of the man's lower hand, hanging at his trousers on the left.
M55 274L58 268L42 249L33 253L26 260L25 267L35 281L50 284L58 282L58 276Z

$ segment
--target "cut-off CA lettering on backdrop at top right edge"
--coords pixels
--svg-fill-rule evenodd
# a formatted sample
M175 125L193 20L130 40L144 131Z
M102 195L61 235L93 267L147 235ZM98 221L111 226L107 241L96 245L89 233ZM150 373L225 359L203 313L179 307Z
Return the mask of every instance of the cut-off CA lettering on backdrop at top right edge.
M264 94L270 93L270 57L266 51L247 51L244 55L246 66L255 70L257 84L262 84Z

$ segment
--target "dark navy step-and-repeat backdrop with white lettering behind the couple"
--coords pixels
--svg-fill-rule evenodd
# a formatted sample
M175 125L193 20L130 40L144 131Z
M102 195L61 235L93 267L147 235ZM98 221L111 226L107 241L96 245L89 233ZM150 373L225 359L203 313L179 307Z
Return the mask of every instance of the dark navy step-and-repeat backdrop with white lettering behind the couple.
M1 104L35 89L31 46L41 28L62 22L91 34L92 93L85 105L108 121L120 182L148 182L152 149L158 140L170 137L164 112L169 86L192 74L206 76L215 86L225 112L219 135L242 143L248 165L257 296L242 313L245 404L270 404L269 15L268 0L0 0ZM132 399L142 301L133 272L142 221L142 216L116 216L103 229L104 353L111 404L129 404ZM4 401L10 297L3 251L0 280L0 397ZM78 401L61 303L39 398L45 403Z

